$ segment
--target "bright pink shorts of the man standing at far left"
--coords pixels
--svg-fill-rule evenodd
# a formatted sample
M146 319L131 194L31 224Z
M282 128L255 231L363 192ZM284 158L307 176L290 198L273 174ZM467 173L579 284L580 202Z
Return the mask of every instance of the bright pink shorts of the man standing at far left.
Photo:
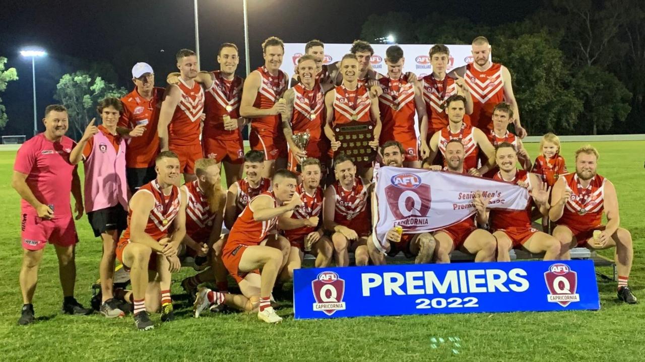
M35 214L23 214L21 229L23 249L26 250L41 250L47 242L62 247L79 242L72 214L50 220L44 220Z

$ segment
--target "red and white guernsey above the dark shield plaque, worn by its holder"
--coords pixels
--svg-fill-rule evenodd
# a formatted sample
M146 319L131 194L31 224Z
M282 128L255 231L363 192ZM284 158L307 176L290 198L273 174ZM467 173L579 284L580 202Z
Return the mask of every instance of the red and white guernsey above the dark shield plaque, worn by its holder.
M336 97L333 100L333 125L345 124L357 120L359 122L372 123L370 107L372 101L365 86L359 86L356 90L348 90L345 86L335 88Z

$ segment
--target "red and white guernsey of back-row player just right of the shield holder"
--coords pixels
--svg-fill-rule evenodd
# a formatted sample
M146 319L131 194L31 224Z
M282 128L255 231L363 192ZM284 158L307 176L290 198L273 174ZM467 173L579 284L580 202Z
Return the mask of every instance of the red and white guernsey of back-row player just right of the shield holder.
M383 77L379 79L379 86L383 90L379 96L381 143L394 139L415 138L414 84L402 79Z

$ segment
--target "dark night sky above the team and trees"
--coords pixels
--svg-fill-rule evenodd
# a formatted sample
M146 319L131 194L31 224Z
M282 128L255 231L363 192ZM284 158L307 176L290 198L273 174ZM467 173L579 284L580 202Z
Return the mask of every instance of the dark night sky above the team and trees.
M502 3L504 8L501 8ZM248 0L251 68L263 62L260 44L275 35L286 43L351 43L370 14L401 11L423 17L443 6L446 17L467 17L473 23L521 21L535 11L537 1L352 1ZM396 7L393 7L396 6ZM106 75L128 90L130 70L137 61L150 63L157 85L175 70L174 54L195 48L192 0L6 1L0 14L0 56L15 67L19 80L0 93L9 122L3 135L32 134L31 61L20 56L25 46L48 52L36 61L38 118L55 102L55 86L64 73L81 70L79 62L103 61L116 74ZM451 15L452 14L452 15ZM219 44L240 48L238 73L244 75L242 0L199 0L201 68L215 69ZM386 34L384 34L386 35ZM371 40L371 39L367 39ZM113 78L113 79L110 79ZM41 126L41 125L40 125ZM41 126L41 130L42 130Z

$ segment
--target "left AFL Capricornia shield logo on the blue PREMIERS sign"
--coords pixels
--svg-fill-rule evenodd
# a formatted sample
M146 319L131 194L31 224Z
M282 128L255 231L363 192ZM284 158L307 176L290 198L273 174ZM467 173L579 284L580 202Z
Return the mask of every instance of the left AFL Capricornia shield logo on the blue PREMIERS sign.
M345 281L338 274L332 271L324 271L318 274L316 280L312 281L313 310L320 310L331 316L336 310L345 310L345 302L342 296L345 294Z

